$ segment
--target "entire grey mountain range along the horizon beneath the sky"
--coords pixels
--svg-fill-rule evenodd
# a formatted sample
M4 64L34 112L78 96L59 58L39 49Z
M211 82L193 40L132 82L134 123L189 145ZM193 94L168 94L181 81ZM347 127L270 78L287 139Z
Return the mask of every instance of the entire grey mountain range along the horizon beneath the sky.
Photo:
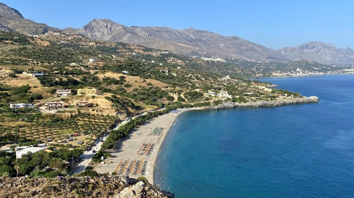
M3 3L0 3L0 31L16 31L32 35L45 34L48 31L81 34L93 40L132 43L199 58L239 59L254 62L289 62L308 59L327 65L354 64L354 50L349 47L340 49L331 43L306 42L275 51L237 36L223 36L206 30L157 26L127 27L111 19L99 18L91 20L80 29L61 30L25 19L18 10Z

